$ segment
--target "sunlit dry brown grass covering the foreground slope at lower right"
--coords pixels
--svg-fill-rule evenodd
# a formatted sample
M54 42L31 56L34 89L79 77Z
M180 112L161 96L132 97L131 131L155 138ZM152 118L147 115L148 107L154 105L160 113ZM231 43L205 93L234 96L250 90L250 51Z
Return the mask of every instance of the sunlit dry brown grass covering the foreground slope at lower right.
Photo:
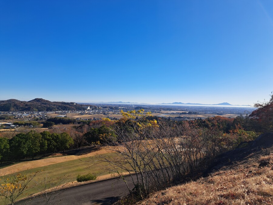
M270 166L258 168L264 161ZM249 158L209 177L153 193L140 204L273 204L272 164L272 153Z

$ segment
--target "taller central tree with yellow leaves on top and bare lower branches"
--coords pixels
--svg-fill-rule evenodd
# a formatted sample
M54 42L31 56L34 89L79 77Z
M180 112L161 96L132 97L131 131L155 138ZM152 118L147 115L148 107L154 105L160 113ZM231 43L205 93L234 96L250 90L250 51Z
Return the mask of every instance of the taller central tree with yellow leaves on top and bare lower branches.
M147 180L145 173L153 170L149 165L152 163L154 155L159 152L159 148L154 146L156 142L153 143L156 140L153 138L153 132L159 126L156 120L147 119L151 113L144 113L143 109L127 112L121 110L120 112L123 118L111 126L117 140L111 140L111 136L106 134L99 135L100 140L108 139L104 140L104 144L108 145L104 149L116 154L100 155L95 162L92 160L92 163L97 166L101 162L107 162L104 169L121 178L123 177L122 173L136 175L136 180L132 177L132 181L137 193L144 197L149 193L149 180ZM120 172L120 170L122 171ZM127 187L129 189L129 186Z

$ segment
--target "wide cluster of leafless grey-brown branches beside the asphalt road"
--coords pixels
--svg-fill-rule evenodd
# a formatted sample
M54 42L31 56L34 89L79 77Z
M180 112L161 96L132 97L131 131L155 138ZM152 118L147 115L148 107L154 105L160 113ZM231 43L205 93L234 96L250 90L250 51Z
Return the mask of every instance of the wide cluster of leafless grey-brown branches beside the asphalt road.
M114 154L99 155L92 163L107 162L104 169L121 177L129 173L141 197L180 182L186 174L194 175L224 149L223 132L187 122L160 121L157 127L145 127L130 121L115 124L113 131L118 140L109 141L105 148Z

